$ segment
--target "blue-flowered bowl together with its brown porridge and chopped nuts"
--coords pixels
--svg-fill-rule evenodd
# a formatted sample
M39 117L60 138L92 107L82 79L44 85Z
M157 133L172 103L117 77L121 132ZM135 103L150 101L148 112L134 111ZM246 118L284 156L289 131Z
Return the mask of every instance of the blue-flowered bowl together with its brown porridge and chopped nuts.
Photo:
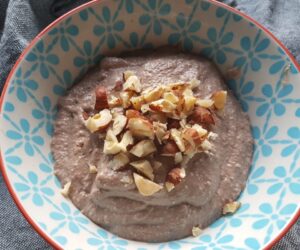
M270 247L299 216L299 79L285 48L225 5L92 1L7 80L4 178L56 248Z

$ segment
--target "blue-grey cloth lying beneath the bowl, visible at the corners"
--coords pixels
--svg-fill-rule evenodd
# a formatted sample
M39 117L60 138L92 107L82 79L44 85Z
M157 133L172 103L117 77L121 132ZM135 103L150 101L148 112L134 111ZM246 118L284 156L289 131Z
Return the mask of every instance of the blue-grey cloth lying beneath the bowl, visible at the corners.
M0 91L21 51L56 17L87 0L0 0ZM300 61L299 0L224 0L269 28ZM0 175L0 249L51 249L13 203ZM274 249L300 249L300 221Z

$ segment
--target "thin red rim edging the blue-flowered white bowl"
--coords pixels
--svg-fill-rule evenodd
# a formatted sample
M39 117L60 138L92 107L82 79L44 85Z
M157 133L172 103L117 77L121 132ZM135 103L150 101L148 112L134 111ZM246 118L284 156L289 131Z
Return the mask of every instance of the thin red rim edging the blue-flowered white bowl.
M24 56L27 54L27 52L35 45L35 43L45 34L47 33L51 28L53 28L57 23L59 23L61 20L65 19L68 16L71 16L77 12L80 12L81 10L83 10L84 8L87 8L89 6L92 6L98 2L100 2L102 0L92 0L88 3L82 4L80 6L78 6L77 8L74 8L73 10L65 13L64 15L60 16L59 18L57 18L55 21L53 21L52 23L50 23L46 28L44 28L30 43L29 45L24 49L24 51L22 52L22 54L19 56L18 60L16 61L15 65L13 66L12 70L10 71L6 82L4 84L3 87L3 91L0 97L0 112L2 111L2 105L3 105L3 100L4 100L4 96L6 94L9 82L15 72L15 70L17 69L17 67L19 66L19 64L21 63L22 59L24 58ZM247 14L244 14L243 12L236 10L224 3L218 2L217 0L205 0L207 2L210 2L211 4L214 4L216 6L220 6L223 7L237 15L242 16L244 19L252 22L253 24L255 24L257 27L259 27L261 30L263 30L265 33L267 33L280 47L281 49L283 49L283 51L289 56L289 58L291 59L291 61L295 64L295 66L297 67L298 71L300 71L300 65L298 64L298 62L296 61L296 59L294 58L294 56L291 54L291 52L285 47L285 45L283 45L283 43L277 38L275 37L275 35L268 30L266 27L264 27L262 24L258 23L256 20L254 20L252 17L248 16ZM26 218L26 220L31 224L31 226L38 232L38 234L40 236L42 236L53 248L55 249L62 249L57 242L55 242L46 232L44 232L44 230L37 224L37 222L34 221L34 219L28 214L28 212L25 210L24 206L22 205L22 202L20 201L20 199L18 198L18 196L16 195L16 193L14 192L12 185L9 181L8 175L6 173L6 169L4 167L4 163L3 163L3 158L2 158L2 153L0 151L0 169L3 175L3 179L7 185L8 191L10 193L10 195L12 196L14 202L16 203L17 207L19 208L19 210L21 211L21 213L23 214L23 216ZM298 209L297 213L294 215L294 217L290 220L290 222L281 230L281 232L272 240L270 241L264 249L271 249L289 230L290 228L297 222L298 218L300 217L300 209Z

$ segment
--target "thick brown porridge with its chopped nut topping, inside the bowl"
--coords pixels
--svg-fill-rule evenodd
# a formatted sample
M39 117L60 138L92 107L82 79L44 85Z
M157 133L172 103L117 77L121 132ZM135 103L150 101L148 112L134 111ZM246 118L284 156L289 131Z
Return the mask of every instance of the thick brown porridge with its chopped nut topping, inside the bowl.
M55 174L83 214L121 237L198 235L234 212L252 160L247 115L209 60L107 57L59 100Z

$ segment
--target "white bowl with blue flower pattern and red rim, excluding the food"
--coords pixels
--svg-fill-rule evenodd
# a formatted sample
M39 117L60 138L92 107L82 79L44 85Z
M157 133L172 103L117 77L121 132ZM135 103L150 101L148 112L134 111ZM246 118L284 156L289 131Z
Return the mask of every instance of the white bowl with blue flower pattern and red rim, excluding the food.
M101 229L61 196L50 140L58 98L88 68L106 55L166 44L204 54L230 75L228 84L250 117L255 150L237 213L218 219L199 237L146 244ZM226 5L91 1L43 30L7 79L0 125L4 179L24 216L55 248L267 248L300 211L299 82L299 66L284 46Z

